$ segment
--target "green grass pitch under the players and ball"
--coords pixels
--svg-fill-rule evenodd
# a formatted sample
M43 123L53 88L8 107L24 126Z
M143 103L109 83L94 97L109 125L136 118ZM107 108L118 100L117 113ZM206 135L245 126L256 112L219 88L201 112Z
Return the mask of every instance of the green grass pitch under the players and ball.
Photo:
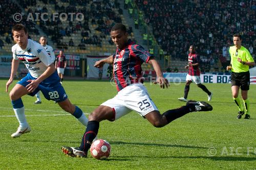
M210 112L194 112L163 128L155 128L136 112L100 123L98 137L108 140L111 156L103 161L66 157L62 145L77 147L85 128L57 104L42 96L24 96L25 114L32 131L11 138L18 122L14 117L7 79L0 80L0 169L255 169L256 167L256 85L249 90L251 119L237 119L238 108L230 84L205 84L214 92ZM10 89L14 86L15 81ZM64 81L71 102L90 113L112 98L115 86L108 81ZM184 83L170 83L168 89L145 83L159 111L184 105ZM241 98L241 94L240 94ZM190 85L188 99L206 101L207 94ZM64 114L64 115L57 115ZM88 116L88 114L87 114Z

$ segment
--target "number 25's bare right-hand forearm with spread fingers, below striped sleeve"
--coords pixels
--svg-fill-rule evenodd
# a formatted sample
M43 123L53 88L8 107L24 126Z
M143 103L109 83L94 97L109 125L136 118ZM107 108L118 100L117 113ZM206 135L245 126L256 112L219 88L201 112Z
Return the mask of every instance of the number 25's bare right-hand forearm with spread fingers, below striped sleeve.
M150 60L148 60L148 64L151 64L154 67L154 70L156 71L157 74L157 80L156 82L154 82L155 84L159 83L161 88L168 88L169 82L167 79L163 78L163 74L160 68L160 65L158 64L158 62L155 60L155 58L150 58Z

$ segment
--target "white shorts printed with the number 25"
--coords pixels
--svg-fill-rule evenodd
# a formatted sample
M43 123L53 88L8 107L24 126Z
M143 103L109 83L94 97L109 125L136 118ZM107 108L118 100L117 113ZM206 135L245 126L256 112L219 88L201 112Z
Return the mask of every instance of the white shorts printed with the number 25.
M111 121L117 120L133 110L141 116L158 110L148 95L147 89L141 83L135 83L125 87L114 98L101 105L113 108L114 115Z

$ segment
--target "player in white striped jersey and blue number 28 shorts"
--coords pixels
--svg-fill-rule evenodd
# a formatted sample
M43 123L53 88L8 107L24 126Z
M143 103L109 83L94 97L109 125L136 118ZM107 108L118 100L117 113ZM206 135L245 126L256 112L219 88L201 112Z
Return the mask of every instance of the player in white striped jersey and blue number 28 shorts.
M6 92L8 92L8 87L13 82L19 61L26 65L29 73L17 82L9 94L14 113L19 122L17 131L11 136L19 137L31 131L25 117L25 108L21 97L26 94L34 96L39 90L47 100L58 102L63 110L71 113L81 124L87 126L87 117L79 107L69 101L64 88L59 83L59 77L53 64L54 59L47 54L45 48L36 41L28 39L28 30L22 24L18 23L13 26L12 35L16 44L12 46L13 60L10 79L6 83Z

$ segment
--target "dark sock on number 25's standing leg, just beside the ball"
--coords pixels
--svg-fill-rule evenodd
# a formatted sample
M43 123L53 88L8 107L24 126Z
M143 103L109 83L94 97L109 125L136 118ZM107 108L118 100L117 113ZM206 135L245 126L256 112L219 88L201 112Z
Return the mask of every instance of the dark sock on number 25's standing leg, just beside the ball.
M84 152L88 152L91 147L93 139L97 136L99 130L99 122L92 120L87 124L86 132L84 132L80 150Z

